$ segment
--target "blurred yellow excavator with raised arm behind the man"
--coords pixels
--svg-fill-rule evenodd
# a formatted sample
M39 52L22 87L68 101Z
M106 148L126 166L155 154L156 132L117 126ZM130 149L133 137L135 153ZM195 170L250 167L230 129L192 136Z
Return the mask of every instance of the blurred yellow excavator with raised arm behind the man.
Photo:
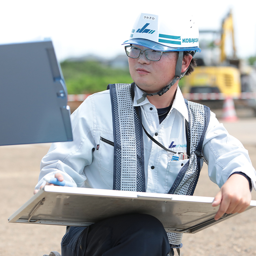
M241 73L238 69L239 60L236 57L233 18L231 12L225 19L223 19L221 31L201 30L199 33L200 35L212 34L214 38L210 45L204 41L202 42L202 54L196 55L198 67L196 67L195 71L187 78L183 92L223 93L227 95L240 94ZM230 33L233 45L232 59L227 58L225 50L227 34ZM221 35L221 38L216 39L219 34ZM209 51L212 53L209 54ZM216 58L218 55L219 60Z

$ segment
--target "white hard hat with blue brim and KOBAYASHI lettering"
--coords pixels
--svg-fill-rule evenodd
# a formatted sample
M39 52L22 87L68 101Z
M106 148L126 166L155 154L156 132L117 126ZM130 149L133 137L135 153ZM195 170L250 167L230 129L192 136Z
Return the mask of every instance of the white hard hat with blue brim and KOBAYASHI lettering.
M172 12L158 16L142 13L133 25L129 40L124 44L136 44L159 51L198 51L199 31L192 16L174 17Z

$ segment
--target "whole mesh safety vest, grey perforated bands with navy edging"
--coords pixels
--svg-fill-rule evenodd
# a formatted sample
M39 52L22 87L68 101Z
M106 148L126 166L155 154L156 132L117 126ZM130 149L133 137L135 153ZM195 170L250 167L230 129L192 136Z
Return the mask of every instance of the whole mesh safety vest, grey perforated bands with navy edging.
M143 133L133 107L131 84L110 84L114 131L113 189L146 192ZM185 99L188 109L189 161L182 167L168 193L193 195L202 168L202 145L208 127L210 109ZM167 232L170 246L180 248L182 233Z

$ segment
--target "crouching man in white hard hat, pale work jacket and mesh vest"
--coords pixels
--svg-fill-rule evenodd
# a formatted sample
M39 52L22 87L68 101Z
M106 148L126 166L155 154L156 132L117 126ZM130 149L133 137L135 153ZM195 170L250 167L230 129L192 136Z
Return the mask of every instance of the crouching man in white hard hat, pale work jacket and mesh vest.
M178 87L200 52L193 19L141 14L123 44L134 83L112 84L82 103L71 117L74 141L52 144L36 189L55 176L78 187L193 195L204 160L221 188L215 219L244 211L256 181L248 152ZM62 255L166 256L181 238L149 215L121 215L69 228Z

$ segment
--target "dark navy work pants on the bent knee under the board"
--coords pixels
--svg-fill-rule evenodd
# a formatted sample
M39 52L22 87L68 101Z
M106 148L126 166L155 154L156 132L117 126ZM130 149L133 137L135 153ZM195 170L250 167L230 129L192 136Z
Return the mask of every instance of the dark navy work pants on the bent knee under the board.
M126 214L89 227L71 227L61 242L62 256L167 256L169 240L158 219Z

